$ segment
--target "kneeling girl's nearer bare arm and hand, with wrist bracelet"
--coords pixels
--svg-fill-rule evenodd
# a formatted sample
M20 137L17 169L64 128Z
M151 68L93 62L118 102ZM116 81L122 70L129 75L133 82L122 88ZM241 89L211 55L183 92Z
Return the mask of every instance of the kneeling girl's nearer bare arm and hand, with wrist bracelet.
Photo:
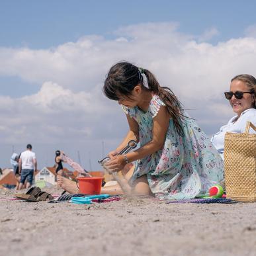
M157 115L153 118L152 140L141 148L126 154L128 163L142 159L155 151L163 148L169 126L170 116L165 106L161 106ZM120 171L126 165L124 155L116 155L106 164L109 171Z

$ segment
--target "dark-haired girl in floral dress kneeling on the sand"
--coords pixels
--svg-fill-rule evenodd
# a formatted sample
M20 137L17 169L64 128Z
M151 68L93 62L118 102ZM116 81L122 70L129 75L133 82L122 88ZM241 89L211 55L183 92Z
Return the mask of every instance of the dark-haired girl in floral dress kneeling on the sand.
M161 87L150 71L120 62L110 68L103 91L122 105L130 128L120 146L108 154L105 166L112 173L136 161L124 173L130 192L179 200L205 194L222 181L220 155L171 89ZM140 142L140 148L116 155L129 140ZM111 191L106 187L103 192Z

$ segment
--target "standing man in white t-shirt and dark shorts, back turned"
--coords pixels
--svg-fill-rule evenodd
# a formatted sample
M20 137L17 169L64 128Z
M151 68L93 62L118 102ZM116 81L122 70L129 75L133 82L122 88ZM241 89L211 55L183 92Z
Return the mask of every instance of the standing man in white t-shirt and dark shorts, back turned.
M25 180L26 189L31 187L34 170L37 168L36 154L32 152L32 146L28 144L26 146L26 151L21 153L19 159L19 173L21 173L21 183L19 184L19 189L22 189Z

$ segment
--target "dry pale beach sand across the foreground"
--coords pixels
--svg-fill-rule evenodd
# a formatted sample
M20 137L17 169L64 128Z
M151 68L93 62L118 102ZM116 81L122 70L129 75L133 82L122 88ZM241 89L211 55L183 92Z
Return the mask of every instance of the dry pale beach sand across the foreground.
M0 191L0 255L256 255L256 203L2 200L12 195Z

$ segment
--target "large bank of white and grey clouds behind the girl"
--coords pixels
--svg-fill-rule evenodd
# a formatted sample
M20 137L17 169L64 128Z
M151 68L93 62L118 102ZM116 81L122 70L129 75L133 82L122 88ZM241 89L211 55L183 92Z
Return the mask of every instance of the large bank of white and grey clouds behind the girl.
M103 139L116 145L126 119L101 90L108 69L120 60L151 70L186 108L195 109L191 116L208 134L217 132L233 115L222 94L230 79L256 75L256 38L206 42L217 34L210 28L198 38L181 34L176 23L147 23L119 28L110 39L85 36L48 50L0 48L0 75L42 85L19 99L0 96L0 139L5 144L65 141L70 148ZM91 143L89 148L95 146Z

